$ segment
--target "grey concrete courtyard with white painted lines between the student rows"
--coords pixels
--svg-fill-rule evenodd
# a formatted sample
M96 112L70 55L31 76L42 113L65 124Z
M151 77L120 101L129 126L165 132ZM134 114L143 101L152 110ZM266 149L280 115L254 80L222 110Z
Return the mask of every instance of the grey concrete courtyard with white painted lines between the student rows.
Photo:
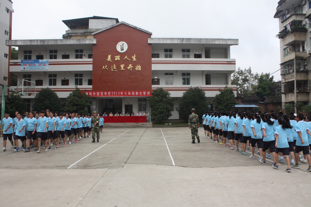
M2 152L0 206L310 205L307 164L276 170L202 132L191 144L186 127L104 129L99 143Z

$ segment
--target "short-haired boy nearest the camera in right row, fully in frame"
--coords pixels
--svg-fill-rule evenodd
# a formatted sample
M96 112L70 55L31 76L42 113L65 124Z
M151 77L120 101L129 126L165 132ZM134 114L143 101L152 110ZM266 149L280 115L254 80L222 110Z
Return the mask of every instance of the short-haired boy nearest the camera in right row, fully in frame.
M309 120L309 119L308 119ZM290 165L292 168L299 169L299 152L303 152L306 155L309 168L307 171L311 171L311 157L309 154L309 141L307 135L307 123L304 122L304 115L302 113L298 113L296 117L297 124L295 124L295 131L298 133L298 137L296 140L296 148L295 148L295 164Z

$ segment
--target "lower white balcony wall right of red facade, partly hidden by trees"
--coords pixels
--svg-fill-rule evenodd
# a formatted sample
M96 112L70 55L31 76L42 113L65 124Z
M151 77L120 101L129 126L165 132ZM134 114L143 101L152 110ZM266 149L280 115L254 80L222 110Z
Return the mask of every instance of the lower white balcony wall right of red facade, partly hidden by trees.
M225 86L232 88L236 96L236 85L152 85L152 90L163 88L163 90L169 91L171 97L182 97L189 88L199 87L204 90L206 97L215 97L219 94L219 89L223 90Z

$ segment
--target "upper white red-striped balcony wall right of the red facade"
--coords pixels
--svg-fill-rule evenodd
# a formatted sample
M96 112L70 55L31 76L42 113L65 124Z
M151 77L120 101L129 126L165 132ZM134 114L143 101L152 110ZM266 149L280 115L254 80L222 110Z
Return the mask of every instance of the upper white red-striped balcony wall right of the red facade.
M152 58L152 70L234 72L235 59L222 58Z

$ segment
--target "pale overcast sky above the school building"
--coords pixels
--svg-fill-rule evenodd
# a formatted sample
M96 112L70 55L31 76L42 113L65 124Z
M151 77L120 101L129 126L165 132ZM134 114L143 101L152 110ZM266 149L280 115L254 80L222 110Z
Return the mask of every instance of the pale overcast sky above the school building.
M238 38L231 47L236 68L253 72L280 69L280 43L275 38L278 0L14 0L12 39L61 38L62 20L89 16L118 18L159 37ZM194 3L193 3L194 2ZM280 72L273 74L280 80Z

